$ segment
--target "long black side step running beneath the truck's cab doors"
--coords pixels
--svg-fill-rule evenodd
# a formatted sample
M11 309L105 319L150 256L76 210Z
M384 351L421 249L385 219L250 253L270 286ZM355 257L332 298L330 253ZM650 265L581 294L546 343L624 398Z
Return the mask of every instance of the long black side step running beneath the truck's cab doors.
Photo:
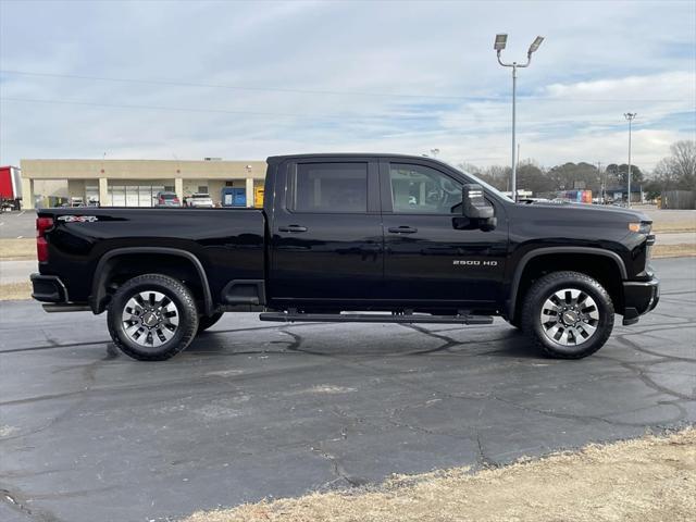
M426 313L301 313L294 310L289 312L263 312L259 315L261 321L276 321L281 323L436 323L436 324L492 324L489 315L430 315Z

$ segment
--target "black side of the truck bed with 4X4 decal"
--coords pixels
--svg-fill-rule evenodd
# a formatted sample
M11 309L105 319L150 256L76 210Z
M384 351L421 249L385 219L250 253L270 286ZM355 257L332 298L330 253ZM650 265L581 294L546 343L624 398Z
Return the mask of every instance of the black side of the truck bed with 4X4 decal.
M47 233L49 260L39 263L39 272L60 275L70 288L69 300L89 302L92 309L100 308L92 294L107 256L137 256L134 261L142 263L152 249L185 252L200 262L215 302L224 302L221 294L231 281L264 278L265 215L260 209L85 207L37 213L53 219Z

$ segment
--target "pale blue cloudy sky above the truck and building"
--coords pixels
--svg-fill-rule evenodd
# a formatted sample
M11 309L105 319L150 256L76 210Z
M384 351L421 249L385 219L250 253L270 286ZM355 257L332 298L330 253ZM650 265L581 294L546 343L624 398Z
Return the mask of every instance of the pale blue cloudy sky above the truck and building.
M0 163L438 148L650 170L696 134L696 2L0 0Z

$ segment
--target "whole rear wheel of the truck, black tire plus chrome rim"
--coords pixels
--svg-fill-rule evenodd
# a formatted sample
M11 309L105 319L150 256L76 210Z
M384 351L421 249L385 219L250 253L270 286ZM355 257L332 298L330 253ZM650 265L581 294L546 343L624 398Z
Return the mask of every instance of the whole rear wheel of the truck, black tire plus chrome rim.
M153 296L164 297L157 301ZM126 315L128 319L124 319ZM152 327L148 323L153 323ZM198 330L198 310L190 290L181 282L166 275L145 274L116 290L107 324L114 345L126 356L139 361L163 361L191 343Z

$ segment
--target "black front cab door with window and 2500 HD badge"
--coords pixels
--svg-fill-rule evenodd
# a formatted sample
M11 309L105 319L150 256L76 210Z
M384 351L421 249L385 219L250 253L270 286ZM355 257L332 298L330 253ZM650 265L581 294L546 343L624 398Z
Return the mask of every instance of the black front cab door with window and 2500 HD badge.
M504 206L497 226L463 226L461 175L418 160L380 163L385 234L385 298L417 308L488 308L501 298L508 244ZM486 198L489 199L489 198Z

